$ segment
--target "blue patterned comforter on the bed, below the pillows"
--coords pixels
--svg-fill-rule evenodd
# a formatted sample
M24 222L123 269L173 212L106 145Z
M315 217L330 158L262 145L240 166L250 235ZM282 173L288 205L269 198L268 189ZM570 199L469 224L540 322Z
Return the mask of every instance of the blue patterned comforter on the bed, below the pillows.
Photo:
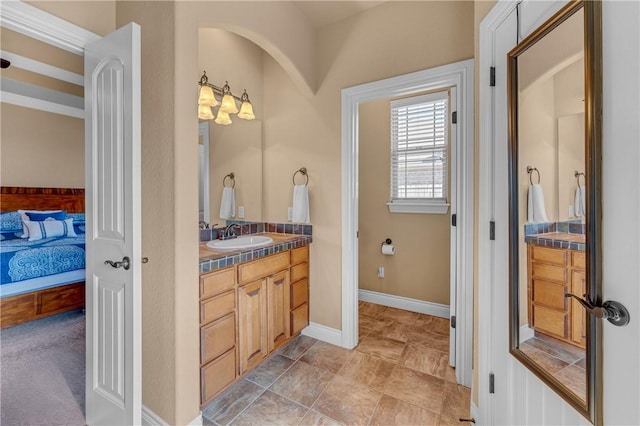
M0 285L84 269L84 249L85 234L31 242L3 237L0 241Z

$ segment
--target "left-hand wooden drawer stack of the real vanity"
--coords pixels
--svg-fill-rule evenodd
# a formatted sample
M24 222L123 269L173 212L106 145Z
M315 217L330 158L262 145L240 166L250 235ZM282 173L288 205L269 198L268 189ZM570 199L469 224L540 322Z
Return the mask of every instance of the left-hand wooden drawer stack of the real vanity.
M236 268L200 277L200 401L238 377Z

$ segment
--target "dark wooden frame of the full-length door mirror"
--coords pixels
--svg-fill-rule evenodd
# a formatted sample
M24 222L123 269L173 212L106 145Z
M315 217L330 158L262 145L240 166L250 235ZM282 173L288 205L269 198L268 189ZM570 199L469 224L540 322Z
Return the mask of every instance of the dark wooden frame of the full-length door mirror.
M509 348L525 367L555 390L594 424L602 424L602 321L587 314L586 400L553 377L519 348L520 286L518 245L518 56L548 35L570 16L584 10L585 66L585 174L586 174L586 289L594 301L602 300L602 4L574 0L527 36L507 55L509 105Z

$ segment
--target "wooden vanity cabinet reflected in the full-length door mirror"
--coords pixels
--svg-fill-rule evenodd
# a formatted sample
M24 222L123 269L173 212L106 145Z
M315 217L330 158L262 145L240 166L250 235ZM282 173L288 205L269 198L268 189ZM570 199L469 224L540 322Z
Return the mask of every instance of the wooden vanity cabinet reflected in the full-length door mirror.
M536 332L584 347L585 310L565 297L585 293L584 252L528 244L527 253L529 324Z

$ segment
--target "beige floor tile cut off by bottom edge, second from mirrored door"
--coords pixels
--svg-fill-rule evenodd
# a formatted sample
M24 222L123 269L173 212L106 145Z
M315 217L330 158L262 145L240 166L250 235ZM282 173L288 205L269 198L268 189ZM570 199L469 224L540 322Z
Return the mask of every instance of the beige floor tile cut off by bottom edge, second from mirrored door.
M424 408L383 395L371 418L371 426L437 425L439 415Z

